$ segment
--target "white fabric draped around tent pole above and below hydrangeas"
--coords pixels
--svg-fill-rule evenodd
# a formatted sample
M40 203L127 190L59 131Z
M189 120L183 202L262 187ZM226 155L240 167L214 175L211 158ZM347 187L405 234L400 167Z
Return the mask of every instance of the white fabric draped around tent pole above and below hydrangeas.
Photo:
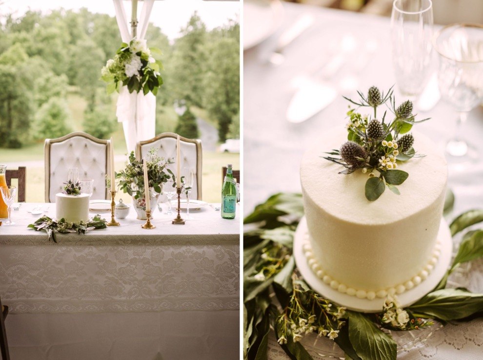
M129 32L123 2L122 0L113 0L113 2L121 39L123 42L129 43L133 36ZM142 40L146 35L153 4L154 0L142 1L137 39ZM156 135L156 96L151 92L146 95L142 91L129 93L127 87L123 86L119 93L116 115L124 128L124 137L129 152L134 151L136 142L151 139Z

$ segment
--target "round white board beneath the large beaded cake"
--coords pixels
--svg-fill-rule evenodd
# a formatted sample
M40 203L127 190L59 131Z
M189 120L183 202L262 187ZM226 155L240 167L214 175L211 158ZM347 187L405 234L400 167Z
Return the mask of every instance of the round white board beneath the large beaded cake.
M350 296L343 294L335 289L332 289L330 285L324 283L317 275L314 274L310 266L307 264L305 254L303 253L302 245L304 239L308 235L307 222L305 217L302 217L294 236L293 253L297 268L302 274L305 281L312 287L313 290L318 292L325 298L333 301L339 306L344 306L349 310L355 310L363 313L379 313L382 312L384 298L376 297L373 300L367 298L358 298L356 296ZM436 263L433 271L429 273L428 277L423 280L419 285L410 290L406 290L402 294L397 294L399 302L402 307L406 307L424 295L429 293L432 289L438 285L446 273L449 264L451 262L452 254L452 238L446 221L442 218L440 223L440 229L437 236L441 244L441 254L438 262Z

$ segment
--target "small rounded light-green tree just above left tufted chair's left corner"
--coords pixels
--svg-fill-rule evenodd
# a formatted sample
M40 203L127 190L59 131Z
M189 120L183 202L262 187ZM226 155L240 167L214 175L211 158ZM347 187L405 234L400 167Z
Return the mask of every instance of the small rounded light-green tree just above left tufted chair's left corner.
M36 112L34 117L34 138L57 138L71 132L66 121L70 117L70 111L61 98L50 98Z

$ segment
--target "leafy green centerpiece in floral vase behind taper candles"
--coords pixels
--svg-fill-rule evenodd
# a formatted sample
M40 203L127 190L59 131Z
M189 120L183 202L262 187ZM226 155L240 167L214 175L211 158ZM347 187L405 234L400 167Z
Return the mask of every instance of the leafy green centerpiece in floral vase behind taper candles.
M143 173L144 159L137 160L134 156L134 151L131 151L129 158L125 163L125 168L121 172L116 172L115 177L119 179L119 189L123 192L127 192L135 199L144 196L144 173ZM162 185L166 183L173 173L171 170L166 169L168 164L173 164L171 159L164 160L158 155L158 149L151 148L149 150L146 167L148 173L149 188L153 188L154 191L161 193ZM169 172L171 175L168 175Z

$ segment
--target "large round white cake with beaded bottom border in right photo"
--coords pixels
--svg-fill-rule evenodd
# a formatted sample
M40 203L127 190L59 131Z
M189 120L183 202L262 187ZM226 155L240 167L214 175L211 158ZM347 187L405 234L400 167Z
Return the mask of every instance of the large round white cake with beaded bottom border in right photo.
M328 130L302 158L301 185L309 233L309 265L341 293L372 300L420 284L438 261L447 165L427 137L412 131L417 154L398 169L409 177L375 201L364 195L367 173L339 174L326 152L347 141L344 128Z

